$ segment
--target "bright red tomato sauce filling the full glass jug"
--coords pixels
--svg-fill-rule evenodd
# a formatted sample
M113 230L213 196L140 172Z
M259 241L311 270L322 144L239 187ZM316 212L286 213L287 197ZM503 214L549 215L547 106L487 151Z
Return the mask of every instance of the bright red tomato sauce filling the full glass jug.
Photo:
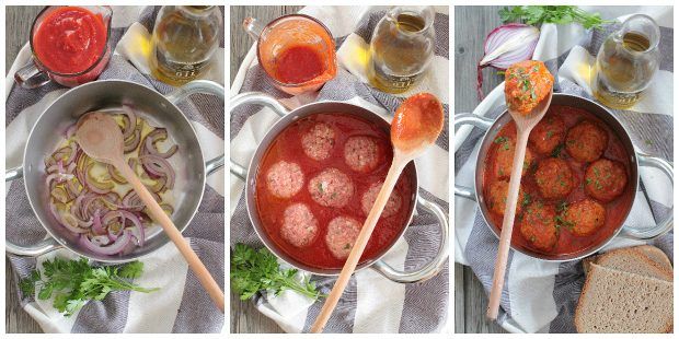
M71 74L92 67L104 54L106 24L101 14L79 7L49 13L33 36L33 49L49 71Z

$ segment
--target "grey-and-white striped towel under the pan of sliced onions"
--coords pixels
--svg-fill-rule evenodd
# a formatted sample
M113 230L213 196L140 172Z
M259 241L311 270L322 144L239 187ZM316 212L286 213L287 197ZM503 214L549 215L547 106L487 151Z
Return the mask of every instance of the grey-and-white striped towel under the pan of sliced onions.
M148 74L146 58L134 52L130 36L146 38L153 30L159 8L115 7L113 9L112 39L116 52L100 79L134 81L160 93L169 93L172 86L156 81ZM223 15L223 8L221 8ZM223 83L223 33L217 52L217 70L211 79ZM133 44L133 45L130 45ZM138 44L138 43L137 43ZM31 49L25 46L14 61L23 66ZM130 63L131 62L131 63ZM146 70L146 71L143 71ZM9 79L13 73L8 75ZM8 86L7 97L7 167L21 165L22 153L30 128L39 114L68 89L55 83L36 90L16 85ZM192 120L198 131L199 142L206 159L223 154L223 104L208 95L193 95L179 107ZM222 287L225 283L225 192L223 171L208 179L198 213L188 225L184 236L198 257L205 262L212 277ZM46 236L30 208L23 180L8 185L7 239L20 245L37 243ZM26 277L39 264L54 256L76 257L66 249L59 249L38 258L10 256L15 279ZM24 309L46 332L219 332L223 328L223 314L214 306L186 261L172 244L141 258L145 264L142 277L135 282L143 287L157 287L158 292L112 292L101 302L89 302L71 317L64 317L51 306L51 301L41 301L32 295L20 295Z

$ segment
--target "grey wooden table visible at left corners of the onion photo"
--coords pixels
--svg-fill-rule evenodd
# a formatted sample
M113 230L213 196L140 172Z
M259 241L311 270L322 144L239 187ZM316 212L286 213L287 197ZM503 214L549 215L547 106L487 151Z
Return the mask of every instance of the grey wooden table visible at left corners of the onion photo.
M10 70L19 50L28 42L33 19L43 9L42 5L7 7L5 12L5 49L4 69ZM41 327L21 308L16 283L8 259L4 260L4 326L8 334L42 334Z

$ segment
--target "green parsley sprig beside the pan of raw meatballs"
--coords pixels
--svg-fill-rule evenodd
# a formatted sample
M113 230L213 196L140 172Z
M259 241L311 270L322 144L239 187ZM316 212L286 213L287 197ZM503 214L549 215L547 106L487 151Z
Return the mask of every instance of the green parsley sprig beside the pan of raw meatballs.
M275 295L292 290L314 300L326 296L317 291L315 282L308 277L299 282L296 274L297 269L281 270L276 256L264 247L254 249L239 243L231 254L231 289L241 300L248 300L263 290Z

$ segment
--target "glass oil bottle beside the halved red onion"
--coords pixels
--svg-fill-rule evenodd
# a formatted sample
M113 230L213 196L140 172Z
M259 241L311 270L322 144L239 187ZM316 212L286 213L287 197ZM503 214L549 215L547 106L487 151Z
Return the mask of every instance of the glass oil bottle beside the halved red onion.
M660 28L644 14L630 16L603 42L597 54L592 93L611 108L638 102L658 70Z

